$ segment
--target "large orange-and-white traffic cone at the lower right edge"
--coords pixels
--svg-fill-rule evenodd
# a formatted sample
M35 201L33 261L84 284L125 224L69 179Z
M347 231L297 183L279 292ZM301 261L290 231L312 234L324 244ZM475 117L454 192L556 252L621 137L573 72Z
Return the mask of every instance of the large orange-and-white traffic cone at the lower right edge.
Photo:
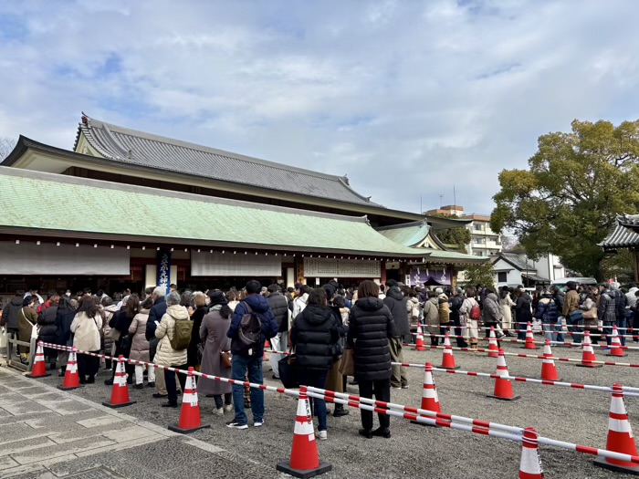
M633 430L628 422L628 413L623 405L623 390L621 385L613 385L613 399L610 403L610 419L608 420L608 440L606 449L613 453L630 455L637 454L634 443ZM597 458L594 465L610 469L618 473L639 474L639 464L627 463L617 459Z

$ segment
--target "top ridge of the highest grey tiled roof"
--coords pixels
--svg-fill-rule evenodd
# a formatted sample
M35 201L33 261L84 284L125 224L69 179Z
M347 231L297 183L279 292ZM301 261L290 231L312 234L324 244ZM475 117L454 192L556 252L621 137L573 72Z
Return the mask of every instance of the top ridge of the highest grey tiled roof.
M198 143L194 143L191 141L183 141L183 140L178 140L175 138L170 138L170 137L166 137L166 136L162 136L162 135L158 135L155 133L149 133L147 131L141 131L141 130L133 130L131 128L127 128L127 127L121 127L120 125L115 125L113 123L108 123L107 121L103 121L103 120L98 120L92 117L89 117L89 115L86 115L84 113L82 113L83 117L86 117L88 122L87 122L87 129L90 129L91 123L93 123L96 128L100 128L102 125L104 125L106 128L110 129L111 131L116 131L119 132L121 134L125 134L125 135L131 135L131 136L138 136L144 140L152 140L152 141L158 141L164 144L169 144L169 145L173 145L173 146L179 146L182 148L186 148L189 150L194 150L194 151L207 151L209 153L212 154L217 154L220 156L227 156L229 158L233 158L235 160L239 160L239 161L246 161L249 163L257 163L257 164L261 164L264 166L268 166L271 168L276 168L278 170L285 170L288 172L299 172L302 174L307 174L309 176L315 176L318 178L324 178L326 180L332 180L332 181L336 181L336 182L341 182L342 184L344 184L345 186L347 186L352 193L357 194L359 197L361 197L361 199L369 199L370 201L370 197L366 197L361 195L360 193L355 192L354 190L351 189L351 187L345 183L343 181L343 176L338 176L338 175L334 175L334 174L329 174L329 173L322 173L322 172L314 172L312 170L307 170L305 168L299 168L297 166L288 166L285 165L283 163L278 163L276 161L268 161L268 160L262 160L260 158L255 158L252 156L248 156L248 155L243 155L241 153L235 153L233 151L225 151L225 150L219 150L217 148L213 148L210 146L206 146L206 145L201 145ZM80 125L80 128L82 127L82 125ZM92 137L88 138L89 141L95 141ZM92 146L95 146L93 144L93 142L91 142Z

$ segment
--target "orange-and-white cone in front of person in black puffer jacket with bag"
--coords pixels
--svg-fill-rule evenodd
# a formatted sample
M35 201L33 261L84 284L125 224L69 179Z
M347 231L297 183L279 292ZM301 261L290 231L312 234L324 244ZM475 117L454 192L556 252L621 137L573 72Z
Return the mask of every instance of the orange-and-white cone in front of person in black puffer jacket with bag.
M293 447L288 463L278 463L278 471L306 479L328 473L332 465L319 462L318 445L310 414L309 396L306 386L299 388L298 414L295 418Z

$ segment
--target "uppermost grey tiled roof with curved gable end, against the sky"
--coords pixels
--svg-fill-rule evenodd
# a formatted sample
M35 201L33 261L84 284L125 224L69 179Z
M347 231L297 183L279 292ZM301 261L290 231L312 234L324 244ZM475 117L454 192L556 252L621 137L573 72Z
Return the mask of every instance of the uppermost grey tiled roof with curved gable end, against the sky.
M381 206L372 203L370 197L353 191L346 176L311 172L215 150L186 141L130 130L86 115L79 124L74 150L78 146L81 134L84 134L96 151L112 161L339 202Z

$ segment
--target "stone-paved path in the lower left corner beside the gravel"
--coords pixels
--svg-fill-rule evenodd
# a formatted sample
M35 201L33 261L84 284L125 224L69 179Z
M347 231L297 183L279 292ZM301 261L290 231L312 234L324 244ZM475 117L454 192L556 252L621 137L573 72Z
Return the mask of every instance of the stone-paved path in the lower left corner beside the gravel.
M170 432L0 368L0 479L273 477Z

